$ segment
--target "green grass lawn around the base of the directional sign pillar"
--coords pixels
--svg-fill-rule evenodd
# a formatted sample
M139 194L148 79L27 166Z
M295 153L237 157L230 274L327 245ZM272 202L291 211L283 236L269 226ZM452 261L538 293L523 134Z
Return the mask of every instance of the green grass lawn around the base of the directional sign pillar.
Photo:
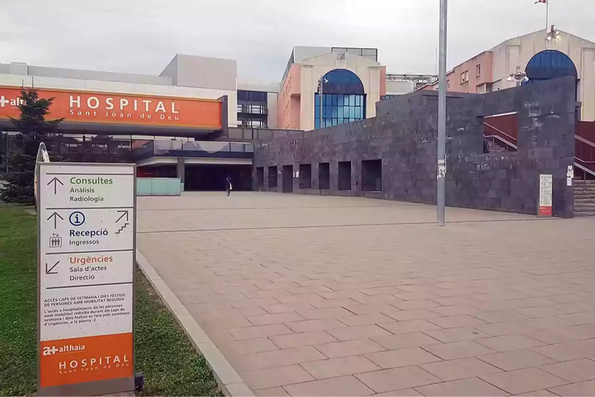
M23 207L0 205L0 396L36 391L37 220ZM145 396L222 395L202 355L139 270L136 371Z

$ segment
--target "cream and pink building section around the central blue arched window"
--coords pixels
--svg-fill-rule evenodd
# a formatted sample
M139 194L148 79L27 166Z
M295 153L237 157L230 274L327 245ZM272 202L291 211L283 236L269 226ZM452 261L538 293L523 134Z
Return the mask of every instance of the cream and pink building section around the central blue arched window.
M308 131L374 117L385 94L377 49L295 47L280 85L277 126Z

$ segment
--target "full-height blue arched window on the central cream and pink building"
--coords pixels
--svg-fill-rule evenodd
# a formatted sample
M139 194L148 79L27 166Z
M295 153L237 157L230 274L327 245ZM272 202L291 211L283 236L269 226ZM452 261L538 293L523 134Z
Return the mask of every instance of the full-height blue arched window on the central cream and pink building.
M314 128L336 126L366 117L366 95L362 80L346 69L334 69L322 76L320 93L314 94Z

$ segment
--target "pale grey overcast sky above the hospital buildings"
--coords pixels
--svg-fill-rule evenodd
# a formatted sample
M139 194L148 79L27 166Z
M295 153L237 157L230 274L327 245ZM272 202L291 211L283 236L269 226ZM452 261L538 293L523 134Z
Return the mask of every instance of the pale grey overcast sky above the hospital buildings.
M595 0L548 0L550 24L595 41ZM293 46L378 48L390 73L434 73L439 0L0 0L0 62L159 74L176 53L278 82ZM544 29L535 0L450 0L449 68Z

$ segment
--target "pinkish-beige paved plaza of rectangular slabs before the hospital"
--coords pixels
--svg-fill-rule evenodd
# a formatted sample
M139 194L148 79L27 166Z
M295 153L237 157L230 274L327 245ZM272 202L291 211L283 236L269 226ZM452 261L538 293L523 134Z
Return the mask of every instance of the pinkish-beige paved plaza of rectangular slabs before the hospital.
M255 395L595 395L595 219L138 199L137 248Z

